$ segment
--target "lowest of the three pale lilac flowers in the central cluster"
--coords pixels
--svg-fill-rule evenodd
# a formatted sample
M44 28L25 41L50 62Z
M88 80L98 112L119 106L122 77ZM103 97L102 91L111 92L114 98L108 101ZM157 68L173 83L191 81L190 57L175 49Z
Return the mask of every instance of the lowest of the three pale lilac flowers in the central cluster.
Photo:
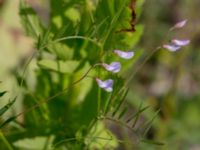
M104 89L107 92L112 92L113 91L113 83L114 81L112 79L108 79L105 81L102 81L98 78L96 78L96 82L98 84L98 86L102 89Z

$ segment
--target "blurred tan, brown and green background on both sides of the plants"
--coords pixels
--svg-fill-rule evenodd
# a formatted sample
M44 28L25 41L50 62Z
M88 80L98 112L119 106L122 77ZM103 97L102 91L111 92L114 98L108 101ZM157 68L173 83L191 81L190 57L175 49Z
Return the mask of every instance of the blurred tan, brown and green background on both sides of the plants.
M48 21L47 2L29 0L44 22ZM9 91L4 99L19 95L13 72L26 62L34 50L32 39L25 36L20 24L18 4L18 0L0 0L0 81L3 81L0 89ZM147 56L162 43L168 29L183 19L188 19L187 25L174 31L171 37L190 39L191 44L175 53L165 50L156 52L129 83L127 104L130 108L137 109L141 101L152 108L144 113L144 120L151 118L158 108L161 109L147 137L165 145L122 144L118 149L200 149L199 6L199 0L146 0L144 3L141 17L137 20L145 26L144 34L134 49L143 50L144 56ZM134 72L142 61L136 62L127 73ZM0 106L6 103L1 100ZM12 111L21 110L21 102L18 101ZM134 141L135 137L127 130L111 126L117 136Z

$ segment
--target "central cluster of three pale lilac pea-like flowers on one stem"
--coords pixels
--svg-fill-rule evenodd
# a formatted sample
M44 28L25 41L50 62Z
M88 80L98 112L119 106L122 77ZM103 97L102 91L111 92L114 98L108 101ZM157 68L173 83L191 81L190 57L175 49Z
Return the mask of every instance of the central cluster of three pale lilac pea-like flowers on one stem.
M124 59L131 59L134 56L134 52L132 51L125 52L121 50L114 50L113 52L119 57L124 58ZM118 73L121 70L120 62L112 62L110 64L102 63L101 66L107 71L112 72L112 73ZM98 86L104 89L105 91L107 92L113 91L114 81L112 79L102 81L101 79L96 78L96 82Z

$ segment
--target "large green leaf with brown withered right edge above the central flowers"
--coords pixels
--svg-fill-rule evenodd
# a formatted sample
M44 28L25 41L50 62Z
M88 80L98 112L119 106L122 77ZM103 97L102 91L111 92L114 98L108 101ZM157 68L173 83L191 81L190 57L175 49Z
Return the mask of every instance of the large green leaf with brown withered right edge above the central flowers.
M101 0L99 2L96 11L97 18L103 20L108 17L105 24L99 29L101 36L107 37L105 49L114 49L116 47L129 49L138 42L140 36L138 37L135 34L135 10L134 7L130 7L131 3L130 0ZM137 30L142 33L143 29Z

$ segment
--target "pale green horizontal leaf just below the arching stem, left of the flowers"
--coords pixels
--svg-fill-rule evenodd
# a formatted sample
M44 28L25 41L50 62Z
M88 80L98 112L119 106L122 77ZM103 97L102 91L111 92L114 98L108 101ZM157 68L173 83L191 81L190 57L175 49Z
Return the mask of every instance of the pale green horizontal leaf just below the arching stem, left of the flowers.
M40 67L61 73L73 73L79 65L79 61L56 61L43 59L38 62Z

